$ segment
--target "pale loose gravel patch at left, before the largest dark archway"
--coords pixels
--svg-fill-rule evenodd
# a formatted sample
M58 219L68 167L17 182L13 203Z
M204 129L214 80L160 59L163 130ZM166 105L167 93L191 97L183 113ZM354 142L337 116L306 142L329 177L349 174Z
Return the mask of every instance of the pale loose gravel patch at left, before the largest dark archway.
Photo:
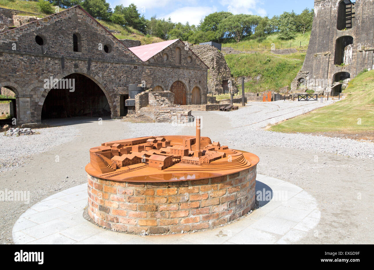
M74 126L39 128L37 134L0 136L0 172L21 167L33 155L70 142L78 136ZM39 134L40 133L40 134Z

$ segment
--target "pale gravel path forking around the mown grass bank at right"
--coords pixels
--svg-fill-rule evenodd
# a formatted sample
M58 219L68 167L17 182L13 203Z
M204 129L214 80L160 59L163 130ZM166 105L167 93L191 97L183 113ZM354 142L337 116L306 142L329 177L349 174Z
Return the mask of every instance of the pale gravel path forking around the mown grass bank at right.
M229 145L248 145L295 148L313 152L333 153L348 157L374 160L374 143L359 142L337 137L314 136L303 133L288 134L267 131L263 128L277 122L312 111L332 102L292 102L271 103L250 102L245 108L232 112L214 112L230 118L232 128L224 133Z

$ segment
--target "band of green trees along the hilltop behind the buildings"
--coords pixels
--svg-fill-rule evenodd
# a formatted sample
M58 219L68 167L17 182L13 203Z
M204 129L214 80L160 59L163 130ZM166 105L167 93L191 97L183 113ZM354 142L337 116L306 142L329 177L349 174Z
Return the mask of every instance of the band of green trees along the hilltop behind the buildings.
M17 4L11 4L12 2L17 2ZM17 9L19 6L24 6L22 2L35 3L35 1L0 0L0 6ZM33 10L46 15L80 4L96 19L132 27L147 37L153 36L163 40L180 38L193 44L206 41L239 42L252 35L260 41L261 38L275 32L279 34L279 38L289 40L294 38L298 32L304 34L310 31L313 21L313 10L309 9L303 10L299 15L293 11L284 12L271 19L248 14L234 15L231 12L221 11L205 16L198 25L190 25L188 22L172 22L170 18L166 20L156 18L156 16L145 19L134 3L128 7L120 4L112 9L106 0L36 0L36 2L37 10L35 7Z

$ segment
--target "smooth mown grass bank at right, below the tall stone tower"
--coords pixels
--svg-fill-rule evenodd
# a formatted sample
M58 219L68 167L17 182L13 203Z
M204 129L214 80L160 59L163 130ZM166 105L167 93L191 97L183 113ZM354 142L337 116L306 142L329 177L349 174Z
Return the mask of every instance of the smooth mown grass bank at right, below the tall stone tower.
M374 130L374 71L354 78L340 102L301 115L271 128L286 133L343 132L355 134ZM361 124L358 124L361 119ZM373 131L374 132L374 131Z

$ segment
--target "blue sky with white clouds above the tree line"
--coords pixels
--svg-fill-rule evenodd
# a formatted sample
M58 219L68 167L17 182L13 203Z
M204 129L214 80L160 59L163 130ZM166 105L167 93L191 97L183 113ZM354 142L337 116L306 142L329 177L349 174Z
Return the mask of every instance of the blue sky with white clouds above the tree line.
M134 3L146 19L171 17L173 22L198 24L200 19L216 11L230 11L273 17L284 11L301 13L306 7L312 9L314 0L107 0L110 7Z

